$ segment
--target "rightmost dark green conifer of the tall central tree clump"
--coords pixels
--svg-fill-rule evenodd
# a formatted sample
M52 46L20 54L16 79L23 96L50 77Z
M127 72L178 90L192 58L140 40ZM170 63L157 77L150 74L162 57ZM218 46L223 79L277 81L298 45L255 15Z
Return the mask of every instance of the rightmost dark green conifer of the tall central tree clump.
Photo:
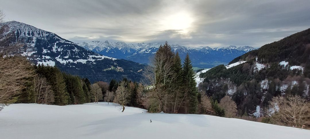
M191 60L189 59L188 54L185 57L183 64L183 90L186 96L188 104L185 105L186 113L196 113L197 112L197 87L195 81L195 73L193 70L193 66L191 64Z

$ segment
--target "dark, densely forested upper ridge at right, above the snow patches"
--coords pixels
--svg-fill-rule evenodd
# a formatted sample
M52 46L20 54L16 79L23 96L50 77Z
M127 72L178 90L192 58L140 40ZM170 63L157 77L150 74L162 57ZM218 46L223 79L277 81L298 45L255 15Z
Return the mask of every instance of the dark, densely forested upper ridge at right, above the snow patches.
M287 61L290 65L302 65L303 73L310 77L310 28L295 33L279 41L266 44L257 50L250 51L235 58L229 64L239 60L257 57L261 63Z

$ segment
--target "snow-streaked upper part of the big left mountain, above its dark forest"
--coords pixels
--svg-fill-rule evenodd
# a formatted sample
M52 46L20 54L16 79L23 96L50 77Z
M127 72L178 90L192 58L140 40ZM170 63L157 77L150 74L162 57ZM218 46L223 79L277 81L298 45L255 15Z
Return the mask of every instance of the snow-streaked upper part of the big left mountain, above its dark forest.
M2 35L12 35L15 42L24 42L27 49L24 55L37 64L54 66L55 62L67 64L68 62L95 63L95 60L115 58L102 56L97 53L86 51L69 40L65 40L55 33L48 32L31 25L10 21L1 23L4 30Z

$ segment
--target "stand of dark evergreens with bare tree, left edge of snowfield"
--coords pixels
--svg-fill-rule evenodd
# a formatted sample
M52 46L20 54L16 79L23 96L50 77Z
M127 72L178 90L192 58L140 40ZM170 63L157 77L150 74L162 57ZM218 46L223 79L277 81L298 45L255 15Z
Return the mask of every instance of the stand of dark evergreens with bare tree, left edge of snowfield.
M91 83L87 78L65 74L48 65L33 66L33 70L34 76L27 78L18 103L67 105L91 102Z

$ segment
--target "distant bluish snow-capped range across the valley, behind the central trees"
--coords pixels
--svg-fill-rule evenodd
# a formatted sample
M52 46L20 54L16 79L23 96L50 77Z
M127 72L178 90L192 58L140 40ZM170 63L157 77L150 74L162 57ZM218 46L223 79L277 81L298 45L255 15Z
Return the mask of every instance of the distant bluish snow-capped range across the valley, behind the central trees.
M161 45L158 43L126 44L124 42L102 42L98 40L76 44L87 50L108 57L126 59L146 64L150 64L149 59L156 53ZM179 44L171 44L171 49L175 53L178 52L182 60L188 53L193 66L199 68L210 68L219 64L227 64L235 57L255 50L255 48L250 46L237 47L230 45L228 47L220 48L210 48L208 46L191 48Z

